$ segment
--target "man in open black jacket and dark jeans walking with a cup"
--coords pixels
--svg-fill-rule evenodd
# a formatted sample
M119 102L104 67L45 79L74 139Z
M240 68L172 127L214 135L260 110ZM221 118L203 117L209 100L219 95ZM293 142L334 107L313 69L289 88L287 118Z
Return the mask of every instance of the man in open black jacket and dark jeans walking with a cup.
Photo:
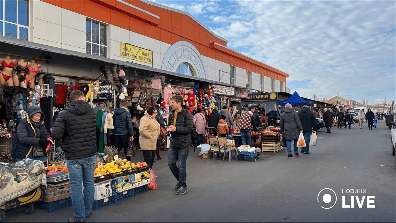
M168 166L177 180L175 186L177 195L183 195L188 191L186 162L191 144L192 126L194 125L191 113L183 109L181 104L183 104L183 98L180 95L172 97L173 112L169 114L168 127L166 127L166 131L171 133Z

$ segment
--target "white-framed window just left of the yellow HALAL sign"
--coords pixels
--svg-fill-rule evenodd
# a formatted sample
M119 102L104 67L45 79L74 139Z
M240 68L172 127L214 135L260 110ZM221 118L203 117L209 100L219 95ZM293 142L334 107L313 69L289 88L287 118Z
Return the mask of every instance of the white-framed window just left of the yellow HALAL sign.
M106 24L86 19L86 53L91 55L106 57L107 51L107 31Z

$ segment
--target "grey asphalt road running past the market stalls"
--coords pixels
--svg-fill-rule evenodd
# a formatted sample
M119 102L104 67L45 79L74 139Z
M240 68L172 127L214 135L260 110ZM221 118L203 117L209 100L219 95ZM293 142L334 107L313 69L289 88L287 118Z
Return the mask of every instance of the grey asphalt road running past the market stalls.
M331 128L318 131L311 154L287 157L287 150L265 152L257 161L202 159L192 148L187 160L188 193L175 195L176 180L167 165L168 152L154 163L157 190L149 190L108 208L94 211L87 222L395 222L395 157L390 130L379 121L373 131ZM133 161L143 161L137 151ZM329 190L332 189L336 196ZM365 193L346 193L347 189ZM345 192L343 192L345 190ZM331 201L324 202L325 194ZM345 202L342 197L345 196ZM362 208L354 198L358 196ZM367 196L370 205L367 208ZM319 202L318 202L319 200ZM335 204L334 204L335 202ZM328 208L324 209L322 206ZM67 222L73 209L32 215L13 213L6 222Z

